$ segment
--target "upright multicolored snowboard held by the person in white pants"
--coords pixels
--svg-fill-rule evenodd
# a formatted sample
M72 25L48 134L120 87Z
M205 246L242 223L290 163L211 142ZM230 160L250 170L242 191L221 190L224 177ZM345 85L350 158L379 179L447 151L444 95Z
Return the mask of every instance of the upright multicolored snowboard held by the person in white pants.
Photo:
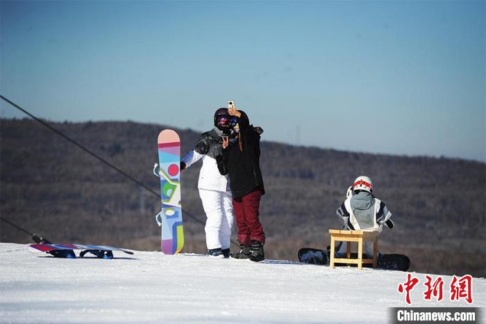
M165 254L181 252L184 232L181 205L181 140L171 129L158 134L158 161L162 211L159 226L162 227L161 248Z

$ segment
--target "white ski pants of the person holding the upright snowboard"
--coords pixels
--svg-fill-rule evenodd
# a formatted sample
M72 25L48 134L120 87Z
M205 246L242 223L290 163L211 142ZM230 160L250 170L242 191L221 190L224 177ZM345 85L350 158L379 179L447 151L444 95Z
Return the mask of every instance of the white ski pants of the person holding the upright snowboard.
M233 197L231 192L199 189L206 213L206 245L208 250L230 248L233 227Z

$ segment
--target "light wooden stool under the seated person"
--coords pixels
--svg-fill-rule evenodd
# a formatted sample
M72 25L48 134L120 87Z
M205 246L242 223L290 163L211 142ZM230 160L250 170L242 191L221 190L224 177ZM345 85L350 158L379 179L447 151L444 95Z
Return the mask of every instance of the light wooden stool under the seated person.
M330 234L330 268L334 264L358 264L361 270L362 264L378 264L378 233L363 231L346 231L344 229L329 229ZM335 258L335 241L346 242L346 258ZM373 259L363 259L363 241L373 241ZM358 242L358 259L351 259L351 242Z

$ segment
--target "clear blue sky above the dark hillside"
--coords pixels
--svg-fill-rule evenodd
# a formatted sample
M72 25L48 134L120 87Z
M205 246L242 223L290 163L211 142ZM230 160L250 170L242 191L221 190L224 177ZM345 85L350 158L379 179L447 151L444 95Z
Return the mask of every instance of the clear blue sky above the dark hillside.
M41 118L204 131L234 99L264 140L486 161L485 1L1 1L0 10L1 95Z

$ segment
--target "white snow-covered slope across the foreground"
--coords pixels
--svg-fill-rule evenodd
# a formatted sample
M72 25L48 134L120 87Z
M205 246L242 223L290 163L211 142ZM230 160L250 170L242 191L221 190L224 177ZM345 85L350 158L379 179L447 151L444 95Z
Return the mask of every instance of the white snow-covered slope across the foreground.
M387 307L406 306L401 272L138 251L54 259L27 248L0 243L0 323L387 323ZM451 277L437 303L413 275L413 306L467 306L449 300ZM486 280L473 286L473 306L485 307Z

